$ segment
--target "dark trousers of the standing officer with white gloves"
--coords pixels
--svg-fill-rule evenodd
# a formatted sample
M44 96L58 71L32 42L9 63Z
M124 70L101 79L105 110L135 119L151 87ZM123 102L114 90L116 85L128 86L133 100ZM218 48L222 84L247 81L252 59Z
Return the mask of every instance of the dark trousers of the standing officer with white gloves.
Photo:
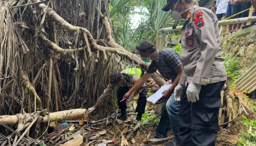
M187 87L181 95L176 146L215 146L221 104L221 89L225 81L202 85L199 100L195 103L187 99Z

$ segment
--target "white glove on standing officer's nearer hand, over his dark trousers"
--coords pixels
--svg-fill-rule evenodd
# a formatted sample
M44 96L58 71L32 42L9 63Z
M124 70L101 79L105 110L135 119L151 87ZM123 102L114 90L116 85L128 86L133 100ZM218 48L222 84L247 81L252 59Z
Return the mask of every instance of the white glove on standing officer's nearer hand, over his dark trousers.
M196 102L196 100L199 100L200 90L201 90L200 84L195 84L195 83L191 82L187 88L188 101L191 101L193 103L193 102Z

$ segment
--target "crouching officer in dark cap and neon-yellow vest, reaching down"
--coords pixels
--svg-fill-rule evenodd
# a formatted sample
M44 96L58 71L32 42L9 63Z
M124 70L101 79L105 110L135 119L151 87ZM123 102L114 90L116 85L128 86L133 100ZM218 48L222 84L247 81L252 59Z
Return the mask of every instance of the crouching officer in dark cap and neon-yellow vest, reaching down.
M110 93L117 86L119 87L117 90L117 101L118 101L119 109L121 110L121 116L119 119L123 121L127 119L126 104L131 102L133 97L139 93L138 106L136 107L136 112L138 112L136 120L140 121L142 118L142 114L144 114L145 112L145 107L147 103L146 95L148 90L147 90L146 84L144 83L138 90L136 90L131 96L129 96L129 99L125 101L121 101L121 100L123 100L124 94L129 91L129 89L135 84L135 82L142 75L143 75L142 70L138 68L133 68L133 69L129 68L129 69L123 70L123 72L120 72L119 70L114 70L114 72L110 74L111 83L104 90L104 92L99 97L95 105L87 110L88 114L93 112L99 104L102 104L104 100L110 95Z

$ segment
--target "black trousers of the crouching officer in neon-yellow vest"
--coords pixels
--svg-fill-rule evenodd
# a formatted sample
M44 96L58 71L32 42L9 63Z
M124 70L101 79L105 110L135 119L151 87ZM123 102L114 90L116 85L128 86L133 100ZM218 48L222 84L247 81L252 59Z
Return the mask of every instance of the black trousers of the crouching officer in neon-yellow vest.
M127 93L129 91L130 87L119 87L119 89L117 90L117 101L118 101L118 106L120 110L126 110L127 106L125 101L120 102L121 100L123 100L123 97L125 95L125 93ZM145 87L143 89L143 91L141 93L139 93L139 99L138 99L138 106L136 107L136 112L138 112L139 114L144 114L145 112L145 107L147 104L147 87Z

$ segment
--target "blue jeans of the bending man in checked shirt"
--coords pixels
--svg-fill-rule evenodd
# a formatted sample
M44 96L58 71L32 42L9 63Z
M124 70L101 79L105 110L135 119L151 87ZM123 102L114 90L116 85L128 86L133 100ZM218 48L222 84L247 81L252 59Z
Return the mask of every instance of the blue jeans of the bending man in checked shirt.
M180 101L174 100L174 93L163 104L160 122L158 123L157 130L155 131L155 138L167 137L167 132L172 127L173 134L177 137L180 123L178 113L180 110Z

